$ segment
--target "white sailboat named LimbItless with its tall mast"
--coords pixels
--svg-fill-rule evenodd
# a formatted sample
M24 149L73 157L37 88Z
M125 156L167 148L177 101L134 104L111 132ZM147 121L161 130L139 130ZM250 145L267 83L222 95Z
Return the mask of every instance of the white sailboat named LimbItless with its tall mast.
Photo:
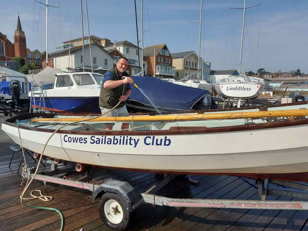
M245 74L242 67L242 53L244 41L244 26L245 26L246 0L244 1L244 16L241 39L241 55L240 55L240 75L230 75L226 79L218 80L214 84L214 89L218 95L227 99L237 99L237 107L240 107L241 99L253 99L259 96L263 91L261 81L252 80Z

